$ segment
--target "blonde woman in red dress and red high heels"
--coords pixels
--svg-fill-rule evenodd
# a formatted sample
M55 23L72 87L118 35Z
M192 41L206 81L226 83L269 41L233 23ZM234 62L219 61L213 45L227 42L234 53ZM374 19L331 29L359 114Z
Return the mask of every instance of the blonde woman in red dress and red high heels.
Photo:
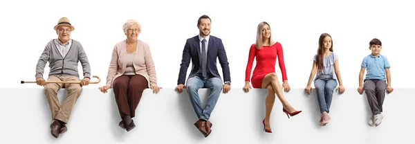
M254 73L252 73L252 78L250 79L252 64L255 57L257 58L257 64L255 66ZM275 63L277 61L277 57L279 69L281 69L282 72L282 86L279 83L277 74L275 73ZM265 118L262 121L265 132L272 132L270 128L270 114L273 110L275 94L277 94L279 101L282 102L282 110L287 114L287 116L289 115L288 118L301 112L295 110L284 98L282 93L282 87L284 87L286 92L290 91L284 65L284 54L281 44L279 44L279 42L273 42L270 25L265 21L259 23L257 41L250 47L248 64L246 65L245 86L243 87L246 92L252 88L250 86L250 82L252 83L252 87L256 89L268 89L265 99Z

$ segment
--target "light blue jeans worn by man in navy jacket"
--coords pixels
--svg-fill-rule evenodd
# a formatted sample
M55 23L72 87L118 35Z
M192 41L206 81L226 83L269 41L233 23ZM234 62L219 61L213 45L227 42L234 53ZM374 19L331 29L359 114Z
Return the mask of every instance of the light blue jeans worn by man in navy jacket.
M203 77L199 77L198 75L189 78L187 80L186 87L187 93L189 93L190 102L192 103L194 112L196 112L199 120L209 120L210 114L212 114L214 106L216 105L219 95L221 94L223 83L220 78L202 78ZM204 108L202 107L201 99L198 93L201 88L210 89L208 102Z

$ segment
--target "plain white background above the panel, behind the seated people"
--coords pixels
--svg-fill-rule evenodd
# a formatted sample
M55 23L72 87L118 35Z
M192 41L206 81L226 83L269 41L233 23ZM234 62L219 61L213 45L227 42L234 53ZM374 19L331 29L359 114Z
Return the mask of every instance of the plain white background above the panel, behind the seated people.
M358 87L360 64L376 37L391 64L392 87L414 88L408 81L414 71L413 6L408 1L2 1L0 87L38 88L19 82L35 80L39 56L57 38L53 26L68 17L75 27L71 37L84 46L92 75L102 79L89 87L105 84L113 46L126 39L122 24L136 19L142 24L138 39L149 44L154 57L158 85L174 88L185 41L198 35L197 19L209 15L211 35L223 39L234 89L243 87L248 51L261 21L269 22L284 48L292 88L306 87L322 33L333 37L344 87ZM218 67L221 73L219 62ZM46 66L44 78L48 70ZM276 71L281 79L278 64ZM81 66L80 74L82 78Z

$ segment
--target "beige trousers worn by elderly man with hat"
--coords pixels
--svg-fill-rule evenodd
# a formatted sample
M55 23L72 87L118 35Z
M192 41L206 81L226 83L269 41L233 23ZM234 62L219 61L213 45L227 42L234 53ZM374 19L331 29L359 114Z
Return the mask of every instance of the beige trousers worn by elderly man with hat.
M69 75L51 75L48 78L48 81L80 81L79 78ZM60 105L59 100L57 99L57 91L64 87L68 91L62 105ZM52 120L61 120L64 123L68 123L69 117L71 116L71 111L75 105L77 98L81 94L81 85L80 84L62 84L62 83L48 83L45 86L45 96L48 100L48 105L50 112L52 113Z

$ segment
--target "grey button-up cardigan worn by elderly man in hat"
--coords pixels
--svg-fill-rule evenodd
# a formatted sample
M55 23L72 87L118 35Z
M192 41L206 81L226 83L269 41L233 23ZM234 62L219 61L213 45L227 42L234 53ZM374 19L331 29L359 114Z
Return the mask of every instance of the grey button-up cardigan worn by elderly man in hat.
M43 77L46 62L49 62L49 76L73 75L79 78L80 75L77 71L77 66L78 62L81 62L84 77L91 78L91 66L89 66L88 57L86 57L86 53L80 42L72 39L71 48L69 48L65 57L62 57L53 40L46 44L39 61L37 61L36 78Z

